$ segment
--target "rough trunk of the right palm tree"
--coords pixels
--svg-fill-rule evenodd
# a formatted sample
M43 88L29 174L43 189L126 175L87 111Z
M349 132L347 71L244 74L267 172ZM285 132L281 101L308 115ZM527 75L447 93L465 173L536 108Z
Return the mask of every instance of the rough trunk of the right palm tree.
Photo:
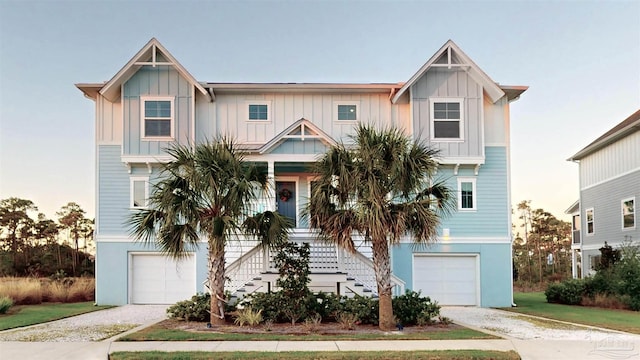
M378 324L380 330L389 331L395 328L393 306L391 304L391 262L389 261L389 244L387 239L373 239L373 270L378 284Z

